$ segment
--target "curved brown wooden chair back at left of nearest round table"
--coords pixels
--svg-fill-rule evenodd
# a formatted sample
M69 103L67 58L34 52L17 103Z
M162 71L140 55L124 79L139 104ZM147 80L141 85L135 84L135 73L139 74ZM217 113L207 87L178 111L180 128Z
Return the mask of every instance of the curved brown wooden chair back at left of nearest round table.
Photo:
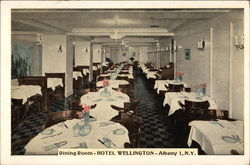
M77 118L76 112L76 110L65 110L48 115L45 121L45 128L48 128L65 120Z

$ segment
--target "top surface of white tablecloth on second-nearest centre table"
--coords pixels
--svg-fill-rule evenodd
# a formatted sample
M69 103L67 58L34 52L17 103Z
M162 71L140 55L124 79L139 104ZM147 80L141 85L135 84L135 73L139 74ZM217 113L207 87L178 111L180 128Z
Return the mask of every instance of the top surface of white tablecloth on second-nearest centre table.
M116 105L118 107L124 107L124 102L129 102L130 98L128 95L122 92L117 92L111 87L108 88L110 96L103 95L104 88L101 88L98 92L89 92L81 97L81 104L97 106L110 106Z

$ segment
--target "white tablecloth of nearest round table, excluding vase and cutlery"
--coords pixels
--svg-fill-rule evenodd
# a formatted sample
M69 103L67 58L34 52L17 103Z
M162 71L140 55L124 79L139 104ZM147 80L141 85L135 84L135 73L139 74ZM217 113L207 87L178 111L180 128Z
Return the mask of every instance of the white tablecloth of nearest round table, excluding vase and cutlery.
M83 147L84 145L81 146L81 143L85 143L87 148L107 148L105 145L98 141L98 139L102 140L103 138L108 138L115 144L115 146L111 145L111 148L124 148L124 143L129 142L127 129L119 123L114 123L112 121L90 122L91 132L88 135L75 136L73 133L73 127L76 125L76 123L82 124L82 121L79 119L67 120L64 122L64 124L68 128L64 127L62 123L47 128L43 132L39 133L36 137L34 137L25 146L25 154L57 154L58 148L55 147L51 150L46 151L44 147L60 142L64 142L65 144L59 147L60 149L86 148ZM118 129L120 130L120 134L117 134ZM52 133L48 135L49 132Z

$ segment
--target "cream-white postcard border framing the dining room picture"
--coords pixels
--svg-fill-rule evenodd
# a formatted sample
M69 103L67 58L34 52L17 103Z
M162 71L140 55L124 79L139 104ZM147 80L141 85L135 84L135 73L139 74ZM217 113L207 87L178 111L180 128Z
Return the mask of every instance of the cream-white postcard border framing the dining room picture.
M244 8L244 156L10 156L11 8ZM1 2L1 162L3 164L248 164L249 163L249 3L247 1L2 1ZM4 104L3 104L4 103ZM2 164L1 163L1 164Z

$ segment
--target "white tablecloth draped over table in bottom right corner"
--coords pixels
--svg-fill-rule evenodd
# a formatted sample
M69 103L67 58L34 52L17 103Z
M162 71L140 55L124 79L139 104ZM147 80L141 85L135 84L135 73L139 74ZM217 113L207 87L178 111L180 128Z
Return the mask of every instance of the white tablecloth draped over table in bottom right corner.
M188 145L200 144L206 154L230 155L231 150L243 154L243 121L192 121Z

